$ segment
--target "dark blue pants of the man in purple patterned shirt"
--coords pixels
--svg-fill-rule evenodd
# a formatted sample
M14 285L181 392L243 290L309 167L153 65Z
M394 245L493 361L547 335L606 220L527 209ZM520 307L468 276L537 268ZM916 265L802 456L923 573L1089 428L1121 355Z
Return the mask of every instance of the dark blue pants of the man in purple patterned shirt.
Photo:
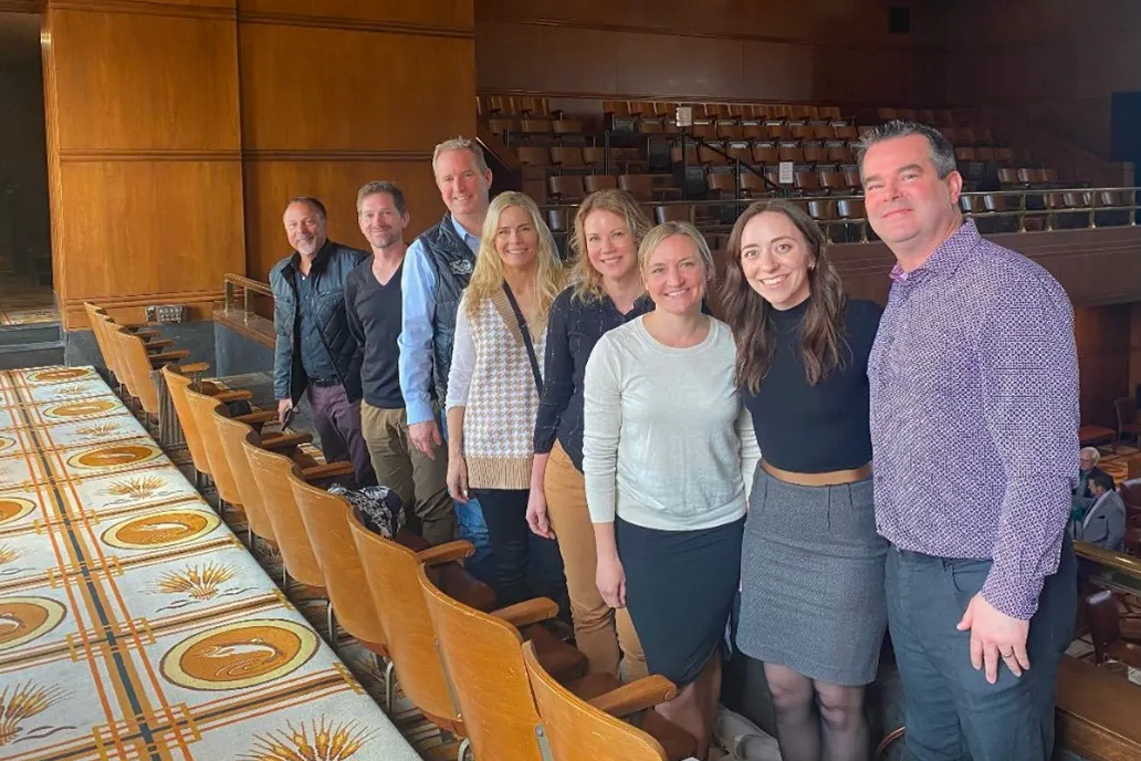
M919 761L1046 761L1054 745L1054 680L1074 634L1076 562L1063 539L1030 618L1030 670L998 665L987 682L971 665L970 631L956 629L990 560L888 550L888 628L904 686L904 758Z

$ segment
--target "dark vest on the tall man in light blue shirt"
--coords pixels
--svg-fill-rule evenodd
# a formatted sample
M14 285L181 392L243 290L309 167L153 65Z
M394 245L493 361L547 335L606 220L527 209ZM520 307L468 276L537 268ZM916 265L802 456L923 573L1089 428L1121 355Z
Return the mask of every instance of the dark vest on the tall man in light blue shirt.
M436 398L447 398L447 373L452 370L452 347L455 343L455 315L460 297L471 281L476 254L455 232L452 214L444 214L435 227L420 235L428 264L436 275L436 324L432 329L432 375Z

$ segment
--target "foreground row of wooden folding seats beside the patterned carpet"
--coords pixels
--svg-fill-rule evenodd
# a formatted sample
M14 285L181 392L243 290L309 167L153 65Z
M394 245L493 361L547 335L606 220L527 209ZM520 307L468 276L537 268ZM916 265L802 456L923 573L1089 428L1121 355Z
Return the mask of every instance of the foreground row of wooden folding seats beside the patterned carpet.
M377 526L324 488L351 465L310 464L298 451L306 435L266 437L168 371L178 416L195 431L195 468L209 470L219 512L245 513L251 551L258 539L276 545L283 593L301 585L297 599L327 600L334 650L345 634L375 656L390 714L399 680L427 720L462 738L458 752L444 747L452 758L574 761L601 758L607 746L623 747L631 761L693 755L693 737L652 710L673 695L672 683L658 675L616 691L613 677L584 678L585 656L544 625L558 613L552 600L497 608L491 588L459 565L475 551L470 542L429 547L408 531ZM615 721L646 709L656 718L641 719L640 729ZM583 746L588 756L577 755Z

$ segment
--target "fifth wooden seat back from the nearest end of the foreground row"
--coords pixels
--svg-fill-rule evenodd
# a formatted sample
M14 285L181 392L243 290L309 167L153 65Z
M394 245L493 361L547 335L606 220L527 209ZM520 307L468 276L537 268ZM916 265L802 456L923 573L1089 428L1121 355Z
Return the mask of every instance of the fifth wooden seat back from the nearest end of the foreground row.
M274 539L285 570L302 584L324 586L325 576L321 573L289 483L289 473L296 463L284 454L262 450L260 443L260 437L251 431L242 442L242 448L250 462L253 480L261 491L261 503L274 527Z

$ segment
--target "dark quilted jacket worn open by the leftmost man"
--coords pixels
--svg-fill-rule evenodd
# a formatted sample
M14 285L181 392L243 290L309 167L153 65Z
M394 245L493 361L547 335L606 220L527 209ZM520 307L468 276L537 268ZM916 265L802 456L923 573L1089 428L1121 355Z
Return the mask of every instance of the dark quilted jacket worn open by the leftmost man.
M365 260L367 254L340 243L325 241L313 259L309 276L313 278L313 299L321 342L337 369L349 402L361 398L362 351L349 332L345 310L345 278ZM300 254L294 251L269 272L269 286L274 292L274 396L292 399L297 404L305 394L309 379L301 366L301 347L298 330L301 309L297 291L297 265Z

